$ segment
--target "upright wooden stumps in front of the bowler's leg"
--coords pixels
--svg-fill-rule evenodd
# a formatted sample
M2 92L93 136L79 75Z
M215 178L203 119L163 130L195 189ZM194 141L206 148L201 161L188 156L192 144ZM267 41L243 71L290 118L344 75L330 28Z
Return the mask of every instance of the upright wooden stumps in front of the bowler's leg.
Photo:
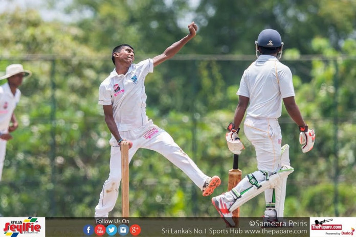
M121 217L129 217L128 200L128 143L121 142Z

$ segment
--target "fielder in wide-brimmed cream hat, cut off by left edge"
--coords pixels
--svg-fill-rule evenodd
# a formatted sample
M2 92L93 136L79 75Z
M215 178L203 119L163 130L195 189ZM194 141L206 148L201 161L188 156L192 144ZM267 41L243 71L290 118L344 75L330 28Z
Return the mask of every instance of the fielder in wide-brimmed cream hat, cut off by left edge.
M0 180L3 173L7 141L12 139L10 132L17 129L18 123L14 110L20 100L21 92L18 87L23 78L31 76L31 72L24 70L21 64L11 64L6 67L6 75L0 80L7 79L7 83L0 86Z

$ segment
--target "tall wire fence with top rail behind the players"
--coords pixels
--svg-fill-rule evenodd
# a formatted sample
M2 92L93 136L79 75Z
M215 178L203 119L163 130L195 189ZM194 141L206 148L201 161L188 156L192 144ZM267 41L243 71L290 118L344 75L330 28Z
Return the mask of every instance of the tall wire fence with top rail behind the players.
M233 119L243 70L254 59L255 56L177 55L154 68L146 78L148 116L172 135L203 172L221 176L222 185L216 194L227 188L232 155L225 144L225 129ZM283 144L291 145L291 163L296 170L288 179L287 215L356 213L355 209L345 209L356 196L353 184L351 192L345 189L356 165L354 136L350 134L355 130L355 112L354 107L345 109L354 102L340 100L347 88L343 78L346 74L339 69L345 69L345 61L355 63L352 58L320 56L282 60L295 75L296 100L305 121L317 133L315 149L301 153L298 129L283 109L279 119ZM102 56L0 57L0 70L5 72L11 63L23 63L33 76L19 87L22 95L15 110L19 128L7 145L0 182L0 213L93 216L109 173L110 150L109 131L97 103L98 87L113 70L112 62ZM320 78L325 74L318 71L321 68L317 63L324 63L326 71L332 70L324 82ZM256 161L254 149L243 133L241 139L246 149L240 169L246 175L256 169ZM320 203L319 199L325 202ZM130 203L132 216L216 215L210 199L201 197L183 172L147 150L139 150L130 164ZM241 208L241 215L259 216L263 206L263 198L251 200ZM120 209L119 199L113 216L119 216Z

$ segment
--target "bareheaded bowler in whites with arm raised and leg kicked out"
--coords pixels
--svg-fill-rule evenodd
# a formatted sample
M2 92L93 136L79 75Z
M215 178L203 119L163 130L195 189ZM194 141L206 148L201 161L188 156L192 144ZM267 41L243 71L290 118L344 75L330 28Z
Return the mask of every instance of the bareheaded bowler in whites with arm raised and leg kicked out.
M132 142L129 161L139 148L157 151L180 168L202 189L203 196L211 195L220 184L220 178L205 175L197 165L174 143L173 138L163 129L154 125L146 115L145 77L153 72L153 67L173 57L196 35L197 26L192 22L189 34L173 43L161 55L133 64L135 53L128 44L117 46L112 53L115 69L99 87L99 104L103 106L105 122L112 138L110 152L110 174L105 181L95 217L108 217L118 198L121 180L122 140Z

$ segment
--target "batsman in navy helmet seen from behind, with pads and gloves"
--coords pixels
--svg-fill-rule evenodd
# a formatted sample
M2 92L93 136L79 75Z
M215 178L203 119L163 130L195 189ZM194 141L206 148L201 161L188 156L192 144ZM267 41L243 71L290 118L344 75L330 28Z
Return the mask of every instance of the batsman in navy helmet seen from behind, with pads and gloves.
M243 145L238 137L239 126L244 120L244 133L256 150L257 171L244 177L230 192L212 198L220 216L234 226L231 212L243 203L264 192L266 209L265 223L281 221L287 176L294 169L290 166L288 145L281 147L282 135L278 118L284 106L299 126L299 141L302 151L313 149L314 130L309 130L295 102L290 68L279 62L283 42L276 30L263 30L256 44L257 60L243 73L233 129L227 133L229 150L240 154ZM248 104L250 105L248 106Z

